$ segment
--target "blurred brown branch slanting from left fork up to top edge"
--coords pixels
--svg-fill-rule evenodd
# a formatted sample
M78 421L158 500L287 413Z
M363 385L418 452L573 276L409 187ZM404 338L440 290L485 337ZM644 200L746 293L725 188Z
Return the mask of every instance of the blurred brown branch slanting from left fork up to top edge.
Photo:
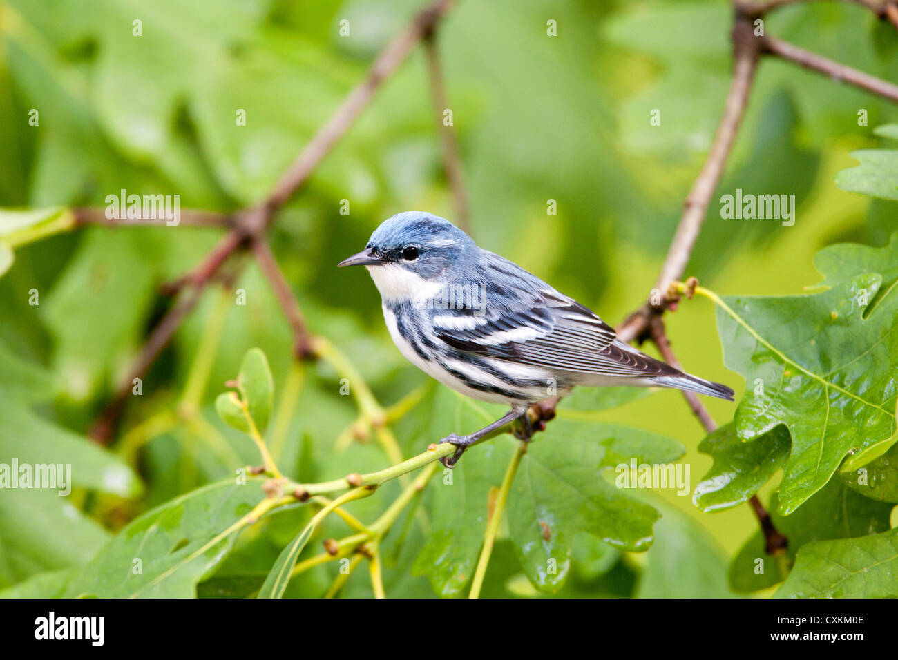
M405 31L383 48L381 54L374 60L368 77L349 92L337 111L318 130L302 154L299 154L277 181L275 189L266 200L268 207L271 209L282 207L287 199L303 187L318 163L330 153L331 147L348 131L361 111L365 110L374 98L374 92L377 92L383 81L405 61L418 40L433 30L436 22L452 8L452 4L453 0L435 0L418 13Z

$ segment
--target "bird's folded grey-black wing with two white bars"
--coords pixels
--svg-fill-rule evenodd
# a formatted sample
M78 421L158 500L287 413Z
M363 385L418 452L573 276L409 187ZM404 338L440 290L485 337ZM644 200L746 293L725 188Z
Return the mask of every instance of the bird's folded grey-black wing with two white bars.
M515 296L514 306L439 310L439 339L463 352L559 371L639 376L678 373L617 341L614 329L584 305L553 289Z

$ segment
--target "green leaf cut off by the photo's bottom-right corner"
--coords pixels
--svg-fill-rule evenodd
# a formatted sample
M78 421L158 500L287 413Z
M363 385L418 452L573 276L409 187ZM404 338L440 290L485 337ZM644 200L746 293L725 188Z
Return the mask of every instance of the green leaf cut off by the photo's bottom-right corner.
M898 527L861 539L819 541L798 550L777 598L898 597Z

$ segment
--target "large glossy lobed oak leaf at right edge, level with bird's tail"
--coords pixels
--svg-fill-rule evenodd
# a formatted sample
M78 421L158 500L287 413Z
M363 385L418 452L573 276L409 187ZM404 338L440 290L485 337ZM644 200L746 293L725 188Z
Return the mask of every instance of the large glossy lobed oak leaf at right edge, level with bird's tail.
M792 448L779 506L797 509L851 454L851 468L894 443L898 234L885 248L833 245L814 265L825 290L718 301L724 359L748 387L736 435L785 425Z

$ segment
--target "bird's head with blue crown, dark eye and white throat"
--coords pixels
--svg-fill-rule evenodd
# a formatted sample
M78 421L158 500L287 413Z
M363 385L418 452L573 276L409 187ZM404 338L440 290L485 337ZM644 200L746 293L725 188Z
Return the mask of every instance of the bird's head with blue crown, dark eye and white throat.
M385 301L419 300L476 256L477 245L442 217L422 211L392 216L374 230L365 250L338 266L365 266Z

